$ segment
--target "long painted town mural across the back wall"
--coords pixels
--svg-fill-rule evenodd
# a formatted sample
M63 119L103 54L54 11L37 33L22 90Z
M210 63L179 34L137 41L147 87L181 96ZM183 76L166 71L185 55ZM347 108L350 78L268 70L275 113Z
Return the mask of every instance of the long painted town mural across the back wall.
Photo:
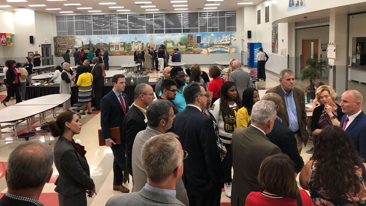
M108 48L109 56L133 55L136 48L160 47L164 44L168 53L179 48L181 54L232 54L236 53L235 32L213 33L175 33L175 34L123 34L123 35L84 35L53 37L55 56L62 57L67 49L72 54L75 48ZM272 50L273 51L273 50Z

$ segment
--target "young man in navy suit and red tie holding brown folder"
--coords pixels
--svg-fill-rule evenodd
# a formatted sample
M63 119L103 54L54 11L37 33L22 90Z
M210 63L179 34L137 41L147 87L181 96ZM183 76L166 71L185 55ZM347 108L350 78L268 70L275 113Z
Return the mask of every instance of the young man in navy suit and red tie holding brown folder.
M123 180L123 171L126 169L126 157L124 154L124 138L123 132L123 120L126 117L128 111L128 99L127 95L123 93L126 79L123 74L116 74L112 77L113 89L107 95L105 95L100 102L100 125L102 128L102 135L105 139L105 146L111 147L113 152L113 190L120 192L130 192L130 190L124 187L122 184L126 181ZM116 144L111 139L111 133L109 128L119 127L121 144Z

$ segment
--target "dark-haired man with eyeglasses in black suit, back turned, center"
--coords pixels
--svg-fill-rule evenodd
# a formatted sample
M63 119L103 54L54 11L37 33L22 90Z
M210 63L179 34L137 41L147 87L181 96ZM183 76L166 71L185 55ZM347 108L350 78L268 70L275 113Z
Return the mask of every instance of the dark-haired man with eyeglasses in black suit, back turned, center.
M209 94L197 82L184 89L186 108L176 114L171 132L180 138L183 150L194 154L184 162L183 183L190 205L220 206L224 179L212 119L202 113Z

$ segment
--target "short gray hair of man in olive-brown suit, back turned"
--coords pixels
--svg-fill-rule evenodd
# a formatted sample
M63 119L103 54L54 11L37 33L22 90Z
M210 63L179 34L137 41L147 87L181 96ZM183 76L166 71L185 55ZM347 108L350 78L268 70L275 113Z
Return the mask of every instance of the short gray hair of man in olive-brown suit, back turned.
M253 105L251 121L260 125L267 124L276 117L276 104L268 100L259 100Z

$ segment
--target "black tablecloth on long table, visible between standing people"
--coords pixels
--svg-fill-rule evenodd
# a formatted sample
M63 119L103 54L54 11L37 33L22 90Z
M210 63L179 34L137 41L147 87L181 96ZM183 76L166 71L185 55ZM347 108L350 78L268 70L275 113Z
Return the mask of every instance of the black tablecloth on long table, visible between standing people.
M155 91L155 86L158 82L149 82L149 85L153 88ZM127 84L124 88L124 92L128 96L128 104L131 106L134 102L134 90L135 90L136 84L131 82L131 84ZM103 96L108 94L113 88L112 83L104 83L103 87ZM78 88L77 87L71 87L71 105L74 105L75 103L78 103ZM25 92L25 100L37 98L40 96L45 95L53 95L53 94L59 94L60 93L60 85L55 84L52 86L29 86L26 87ZM92 101L92 105L94 105L94 99Z

